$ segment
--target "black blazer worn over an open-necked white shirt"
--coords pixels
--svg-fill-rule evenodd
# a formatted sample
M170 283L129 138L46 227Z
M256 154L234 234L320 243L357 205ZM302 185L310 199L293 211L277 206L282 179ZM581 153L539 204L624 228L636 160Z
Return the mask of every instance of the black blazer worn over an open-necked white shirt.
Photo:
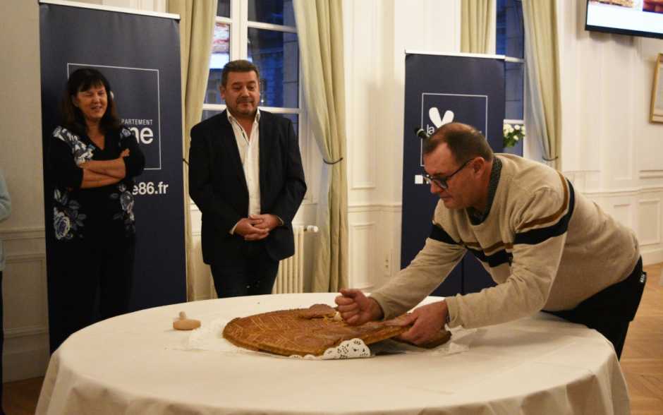
M283 219L267 236L273 260L295 252L292 219L306 193L299 143L292 122L260 111L260 212ZM248 187L226 111L191 128L189 195L202 212L202 259L221 265L241 255L242 236L230 230L248 216Z

